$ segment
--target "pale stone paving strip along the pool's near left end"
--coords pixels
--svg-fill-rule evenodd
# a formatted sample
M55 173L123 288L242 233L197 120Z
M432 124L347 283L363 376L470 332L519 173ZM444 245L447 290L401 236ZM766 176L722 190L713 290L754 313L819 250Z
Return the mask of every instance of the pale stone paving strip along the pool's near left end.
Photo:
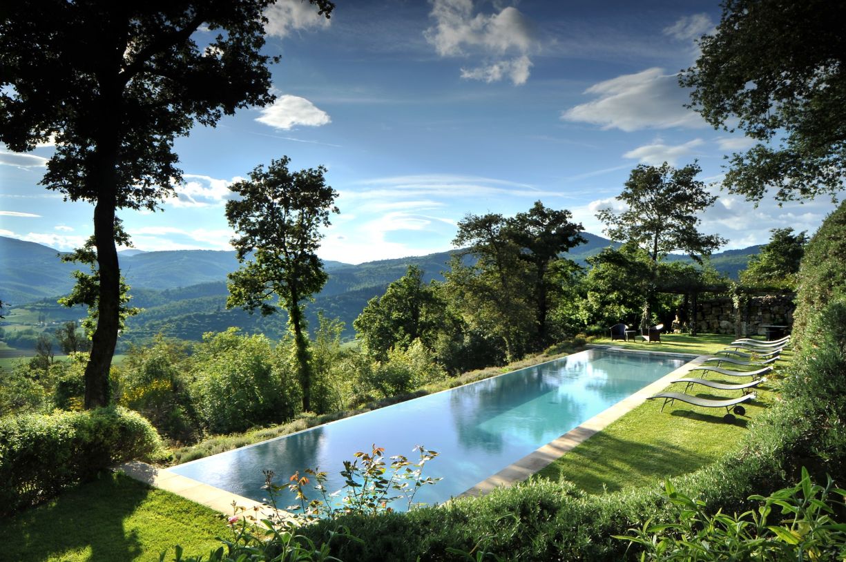
M239 507L243 507L244 511L239 512L244 515L253 515L257 520L268 519L274 515L274 511L270 505L262 504L255 501L255 499L244 498L238 494L227 492L214 486L209 486L203 482L198 482L193 478L184 477L175 474L165 469L158 469L155 466L150 466L140 460L133 460L116 467L116 470L123 471L126 476L135 478L140 482L144 482L154 488L160 488L170 493L175 493L185 499L205 505L211 510L219 511L223 515L233 515L233 503ZM280 515L286 512L280 510Z

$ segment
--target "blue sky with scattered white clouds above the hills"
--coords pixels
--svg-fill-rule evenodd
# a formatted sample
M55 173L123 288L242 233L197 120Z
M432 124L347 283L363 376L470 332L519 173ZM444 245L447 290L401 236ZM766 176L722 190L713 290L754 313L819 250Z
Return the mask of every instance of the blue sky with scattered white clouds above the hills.
M637 164L665 160L698 159L719 195L701 229L723 250L776 227L811 234L834 208L754 208L719 190L723 156L751 143L685 109L675 76L719 20L716 1L337 3L328 22L299 0L267 14L277 102L177 141L179 196L119 213L135 247L229 249L228 185L283 155L328 168L340 213L320 254L341 262L446 251L465 214L537 200L602 234L596 209L616 205ZM38 185L51 152L0 145L0 235L69 250L91 234L92 207Z

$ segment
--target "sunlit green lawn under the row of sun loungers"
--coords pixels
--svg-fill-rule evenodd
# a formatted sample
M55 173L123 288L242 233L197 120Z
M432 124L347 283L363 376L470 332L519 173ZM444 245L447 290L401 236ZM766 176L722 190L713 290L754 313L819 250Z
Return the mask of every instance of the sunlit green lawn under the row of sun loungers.
M678 351L706 354L721 350L733 340L731 336L706 334L695 339L686 335L662 335L662 344L618 342L621 347ZM597 341L610 344L610 340ZM722 421L726 413L722 408L701 408L676 402L661 411L662 400L646 401L600 433L563 455L560 459L538 472L534 478L565 478L591 493L614 491L625 487L648 486L662 477L673 477L695 471L739 445L750 421L759 416L776 398L778 371L789 361L777 361L775 374L758 387L758 398L746 406L746 414L737 422ZM743 370L737 367L736 370ZM700 375L697 375L700 376ZM750 379L719 377L711 380L739 383ZM681 384L667 388L683 392ZM718 391L698 387L691 391L703 398L724 399L739 396L740 391Z

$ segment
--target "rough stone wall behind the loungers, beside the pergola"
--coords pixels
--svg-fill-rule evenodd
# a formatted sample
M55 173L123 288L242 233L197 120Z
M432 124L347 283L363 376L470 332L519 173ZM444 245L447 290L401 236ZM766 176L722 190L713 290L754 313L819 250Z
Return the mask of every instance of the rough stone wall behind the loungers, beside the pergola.
M740 310L735 310L729 297L703 300L696 309L696 329L704 333L762 336L766 335L766 328L761 325L793 326L795 307L794 295L751 296Z

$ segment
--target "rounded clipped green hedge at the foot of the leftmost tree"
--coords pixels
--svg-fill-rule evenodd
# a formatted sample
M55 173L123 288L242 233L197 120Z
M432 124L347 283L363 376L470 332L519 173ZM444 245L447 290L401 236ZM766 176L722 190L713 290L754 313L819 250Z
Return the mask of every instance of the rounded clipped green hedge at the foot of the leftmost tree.
M120 462L162 455L156 430L124 408L0 419L0 513L48 499Z

